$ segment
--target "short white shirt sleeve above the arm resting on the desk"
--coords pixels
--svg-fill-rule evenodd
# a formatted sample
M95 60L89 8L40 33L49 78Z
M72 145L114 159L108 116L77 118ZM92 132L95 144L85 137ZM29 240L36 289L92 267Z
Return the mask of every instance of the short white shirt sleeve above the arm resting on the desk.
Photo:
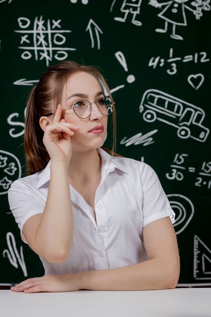
M175 223L175 213L170 206L166 194L155 171L145 164L141 172L143 188L143 226L152 221L169 216Z

